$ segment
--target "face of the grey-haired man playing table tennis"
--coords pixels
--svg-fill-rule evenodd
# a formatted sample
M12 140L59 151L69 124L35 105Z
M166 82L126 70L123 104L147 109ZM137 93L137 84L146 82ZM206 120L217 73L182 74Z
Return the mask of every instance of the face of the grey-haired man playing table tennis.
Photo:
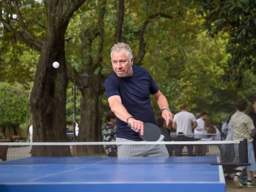
M129 77L132 75L133 57L130 61L126 53L126 50L112 52L111 63L118 77Z

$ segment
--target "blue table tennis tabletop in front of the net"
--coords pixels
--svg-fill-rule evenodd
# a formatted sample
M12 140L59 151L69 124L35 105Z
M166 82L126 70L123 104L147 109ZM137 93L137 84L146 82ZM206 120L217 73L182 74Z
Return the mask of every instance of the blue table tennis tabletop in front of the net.
M0 191L226 191L223 169L220 165L214 166L199 161L177 163L179 159L175 157L167 158L165 162L160 163L143 162L143 160L141 163L125 163L117 158L98 158L93 162L90 158L84 158L84 163L75 163L77 159L73 158L74 163L69 163L70 158L61 163L38 163L36 159L32 164L0 162ZM52 162L55 160L52 158Z

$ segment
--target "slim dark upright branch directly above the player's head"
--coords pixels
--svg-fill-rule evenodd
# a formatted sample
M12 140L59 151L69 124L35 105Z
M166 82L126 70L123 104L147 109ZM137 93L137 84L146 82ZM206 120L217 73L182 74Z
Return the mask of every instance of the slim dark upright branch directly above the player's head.
M124 0L119 0L118 20L115 31L115 43L122 41L122 26L124 21Z

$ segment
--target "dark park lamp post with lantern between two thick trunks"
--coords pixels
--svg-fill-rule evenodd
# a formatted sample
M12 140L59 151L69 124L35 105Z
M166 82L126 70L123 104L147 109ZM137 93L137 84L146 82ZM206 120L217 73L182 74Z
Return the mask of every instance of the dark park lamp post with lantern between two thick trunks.
M74 80L74 89L72 90L72 93L74 94L74 109L73 109L73 142L76 141L76 94L78 92L78 89L83 89L88 87L89 83L89 75L87 73L83 73L81 76L81 86L76 85L76 80ZM73 88L73 86L72 86Z

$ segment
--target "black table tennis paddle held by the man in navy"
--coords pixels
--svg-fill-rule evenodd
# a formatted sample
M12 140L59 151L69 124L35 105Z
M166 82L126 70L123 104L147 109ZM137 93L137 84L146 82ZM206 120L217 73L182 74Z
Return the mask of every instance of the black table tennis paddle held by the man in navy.
M128 127L131 127L130 123L128 123ZM153 123L144 123L144 135L140 136L146 141L160 141L163 139L161 130Z

